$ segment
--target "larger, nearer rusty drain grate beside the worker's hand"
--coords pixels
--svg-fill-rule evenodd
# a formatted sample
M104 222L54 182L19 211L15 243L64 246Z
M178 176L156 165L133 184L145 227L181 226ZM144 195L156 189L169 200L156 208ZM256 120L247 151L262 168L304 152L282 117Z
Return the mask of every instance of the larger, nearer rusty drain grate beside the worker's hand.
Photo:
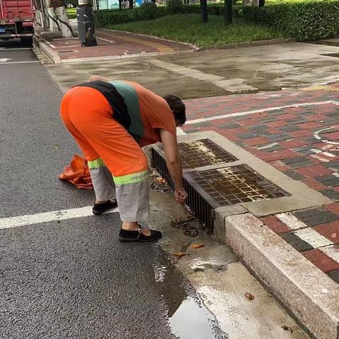
M246 165L194 171L189 177L220 206L289 196Z

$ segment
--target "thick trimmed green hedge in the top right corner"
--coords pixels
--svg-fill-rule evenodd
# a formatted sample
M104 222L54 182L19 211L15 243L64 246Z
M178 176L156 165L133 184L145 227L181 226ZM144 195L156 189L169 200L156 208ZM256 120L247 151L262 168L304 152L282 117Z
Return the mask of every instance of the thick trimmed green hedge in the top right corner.
M299 41L318 40L339 32L339 1L305 1L242 8L246 20L270 25Z

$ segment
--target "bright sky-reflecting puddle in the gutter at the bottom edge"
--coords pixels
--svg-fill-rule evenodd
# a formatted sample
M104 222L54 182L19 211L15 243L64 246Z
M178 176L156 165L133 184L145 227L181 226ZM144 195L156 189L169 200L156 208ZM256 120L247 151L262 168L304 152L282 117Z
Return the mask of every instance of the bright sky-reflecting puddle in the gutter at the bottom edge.
M169 318L174 335L180 339L227 339L220 330L215 316L198 298L187 297Z

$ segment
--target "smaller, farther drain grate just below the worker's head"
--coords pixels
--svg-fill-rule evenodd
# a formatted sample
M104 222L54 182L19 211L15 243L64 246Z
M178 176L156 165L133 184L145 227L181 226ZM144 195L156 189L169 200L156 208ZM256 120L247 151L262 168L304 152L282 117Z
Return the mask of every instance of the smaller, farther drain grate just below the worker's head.
M183 169L227 164L237 161L236 157L213 143L213 141L210 141L210 139L179 143L178 147Z

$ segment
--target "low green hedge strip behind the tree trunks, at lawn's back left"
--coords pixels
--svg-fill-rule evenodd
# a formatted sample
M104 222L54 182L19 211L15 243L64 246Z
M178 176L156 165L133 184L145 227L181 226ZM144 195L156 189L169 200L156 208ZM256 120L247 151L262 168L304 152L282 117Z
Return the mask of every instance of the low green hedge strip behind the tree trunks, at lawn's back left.
M240 7L234 6L234 13L239 12ZM117 25L119 23L131 23L133 21L152 20L162 16L178 13L200 13L199 5L182 6L155 6L148 3L133 9L103 9L95 11L95 25L98 28L105 28L107 25ZM222 4L208 5L208 13L222 16L224 6Z

